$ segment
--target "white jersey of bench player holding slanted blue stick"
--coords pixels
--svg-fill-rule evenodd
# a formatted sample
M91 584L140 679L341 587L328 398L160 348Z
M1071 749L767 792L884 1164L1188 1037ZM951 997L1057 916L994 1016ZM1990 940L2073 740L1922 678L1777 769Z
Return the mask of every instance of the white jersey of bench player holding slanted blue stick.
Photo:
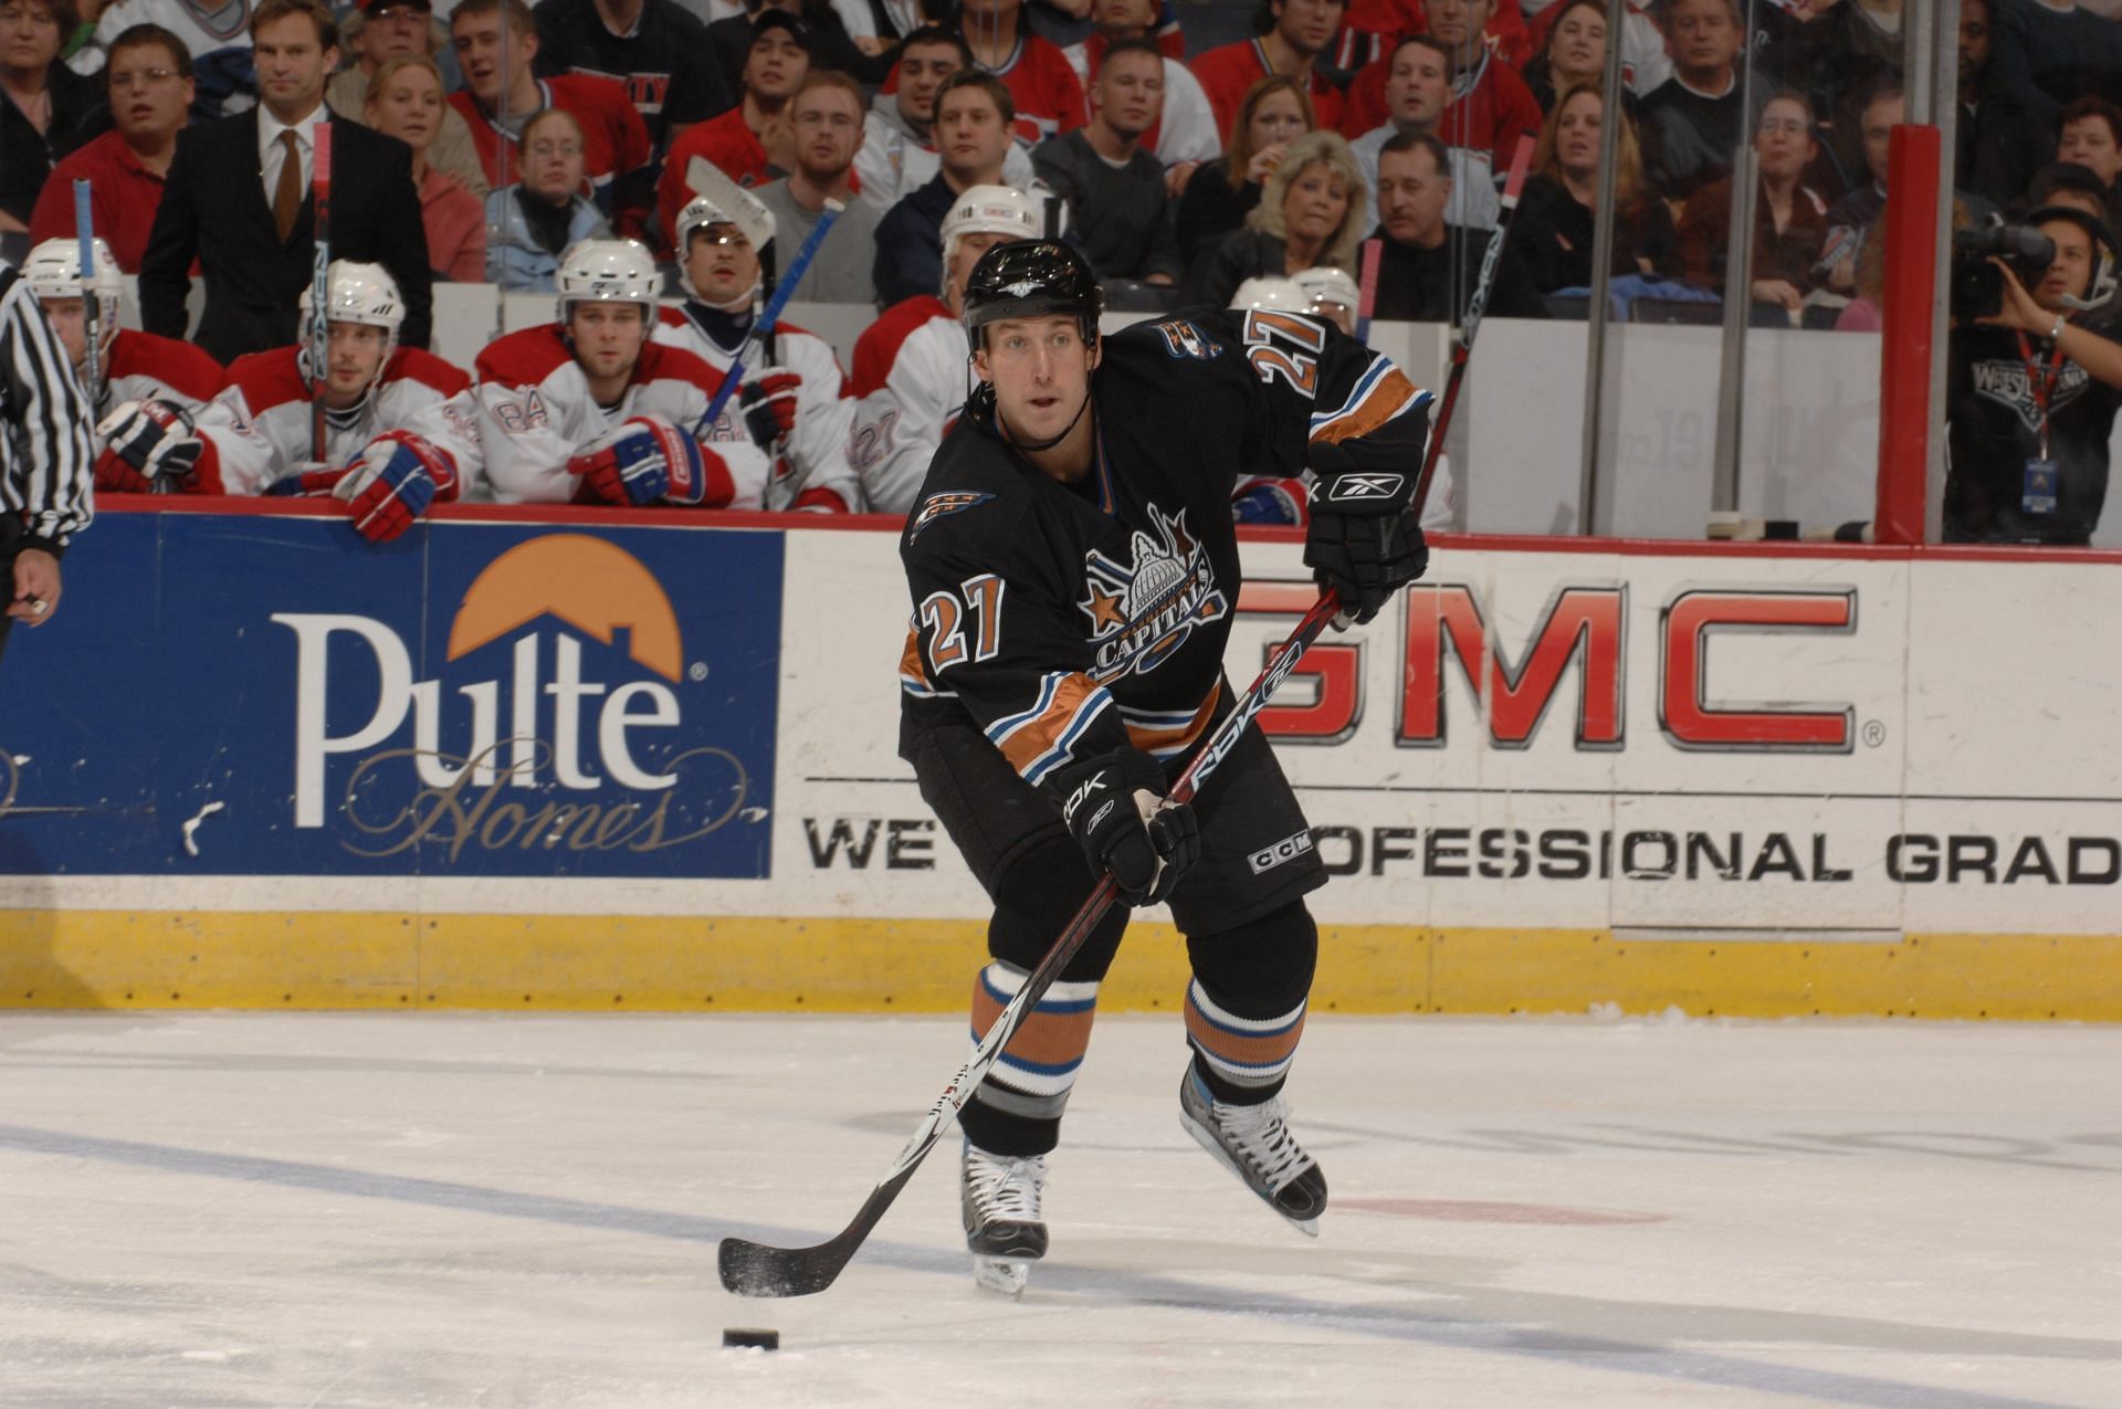
M713 367L715 380L711 386L721 384L721 376L730 369L730 359L734 356L732 350L715 346L707 329L677 308L662 310L662 318L656 325L656 342L668 348L683 348ZM855 484L853 467L847 463L847 439L855 427L855 399L832 344L794 323L775 325L772 365L747 367L743 378L751 382L768 371L794 371L802 378L802 388L796 393L796 431L789 435L787 454L770 467L772 482L766 490L766 507L862 509L862 490ZM751 433L745 431L743 407L734 395L700 441L724 460L741 454L758 456L762 465L766 460Z

